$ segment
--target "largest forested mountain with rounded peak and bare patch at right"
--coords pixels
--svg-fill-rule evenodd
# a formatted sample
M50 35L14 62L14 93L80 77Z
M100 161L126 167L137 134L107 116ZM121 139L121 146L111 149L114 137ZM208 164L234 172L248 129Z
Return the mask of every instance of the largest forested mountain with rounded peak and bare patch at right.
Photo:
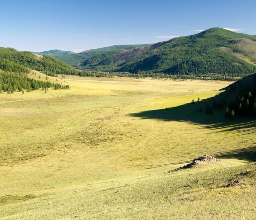
M72 56L72 55L71 55ZM80 69L131 73L250 74L256 71L256 36L211 28L143 48L80 62ZM103 57L105 58L105 57Z

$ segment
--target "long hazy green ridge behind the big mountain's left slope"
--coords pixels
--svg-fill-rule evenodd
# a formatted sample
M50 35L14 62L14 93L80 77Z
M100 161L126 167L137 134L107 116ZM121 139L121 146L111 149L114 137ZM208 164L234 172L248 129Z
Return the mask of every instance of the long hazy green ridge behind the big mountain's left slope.
M145 46L149 46L149 45L152 45L152 44L113 45L110 47L86 50L86 51L83 51L83 52L77 53L77 54L56 56L56 58L60 59L61 61L65 62L71 66L79 66L77 64L85 62L87 59L90 59L94 56L98 56L105 52L110 52L110 51L124 52L124 51L130 50L130 49L134 49L134 48L138 48L138 47L145 47ZM96 58L96 59L98 59L98 58Z

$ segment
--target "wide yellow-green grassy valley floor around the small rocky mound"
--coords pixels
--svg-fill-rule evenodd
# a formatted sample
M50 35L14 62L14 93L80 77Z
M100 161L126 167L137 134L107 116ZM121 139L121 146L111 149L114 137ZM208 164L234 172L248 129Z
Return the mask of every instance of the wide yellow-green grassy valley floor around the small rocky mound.
M60 76L0 94L0 219L255 218L255 120L184 105L230 82Z

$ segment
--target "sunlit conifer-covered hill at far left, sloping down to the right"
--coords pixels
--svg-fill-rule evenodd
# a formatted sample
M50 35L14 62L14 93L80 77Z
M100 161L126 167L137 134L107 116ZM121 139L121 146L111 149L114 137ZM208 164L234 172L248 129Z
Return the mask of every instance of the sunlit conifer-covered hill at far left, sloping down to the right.
M0 47L0 69L5 72L24 73L31 69L41 71L49 76L56 74L79 75L81 73L54 57L3 47Z

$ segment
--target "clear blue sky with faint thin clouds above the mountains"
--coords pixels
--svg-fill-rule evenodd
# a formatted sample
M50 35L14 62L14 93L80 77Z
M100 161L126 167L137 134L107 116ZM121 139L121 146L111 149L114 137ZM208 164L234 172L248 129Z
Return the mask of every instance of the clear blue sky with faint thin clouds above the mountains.
M255 0L1 0L0 46L80 52L144 44L211 27L256 34Z

